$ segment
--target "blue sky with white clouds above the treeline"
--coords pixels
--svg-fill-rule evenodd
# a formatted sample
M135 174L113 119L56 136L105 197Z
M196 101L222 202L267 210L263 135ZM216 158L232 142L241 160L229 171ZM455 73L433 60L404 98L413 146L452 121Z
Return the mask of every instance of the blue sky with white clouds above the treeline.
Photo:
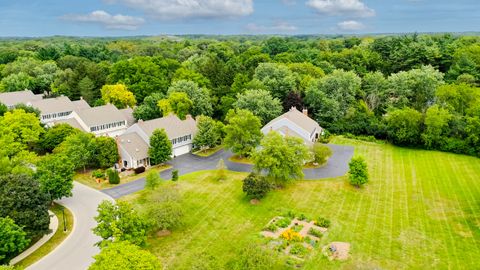
M480 31L480 0L0 0L0 36Z

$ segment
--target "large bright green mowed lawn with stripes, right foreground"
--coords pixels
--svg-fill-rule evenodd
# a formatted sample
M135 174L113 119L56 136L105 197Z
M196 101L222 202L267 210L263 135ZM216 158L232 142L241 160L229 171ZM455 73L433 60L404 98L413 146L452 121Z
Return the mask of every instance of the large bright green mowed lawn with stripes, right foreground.
M355 146L369 165L362 189L346 177L299 181L251 205L241 190L245 174L215 182L212 172L181 177L184 224L148 249L167 269L222 269L274 216L285 210L332 221L321 243L349 242L351 258L330 262L319 249L304 269L478 269L480 159L336 138ZM142 194L124 200L141 207ZM196 267L196 268L195 268Z

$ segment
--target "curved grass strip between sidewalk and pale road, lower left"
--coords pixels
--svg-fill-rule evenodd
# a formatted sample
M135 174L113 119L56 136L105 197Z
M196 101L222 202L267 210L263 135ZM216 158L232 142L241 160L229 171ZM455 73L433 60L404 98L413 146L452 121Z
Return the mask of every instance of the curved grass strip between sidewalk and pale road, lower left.
M64 224L63 224L63 215L62 215L62 206L59 204L54 204L50 207L50 211L52 211L58 218L58 229L55 234L50 238L45 244L43 244L40 248L35 250L32 254L30 254L25 259L18 262L15 266L19 267L19 269L26 268L33 263L37 262L41 258L45 257L48 253L53 251L58 245L60 245L63 240L67 238L67 236L72 232L73 228L73 215L68 208L65 207L65 219L67 221L66 227L67 231L64 232Z

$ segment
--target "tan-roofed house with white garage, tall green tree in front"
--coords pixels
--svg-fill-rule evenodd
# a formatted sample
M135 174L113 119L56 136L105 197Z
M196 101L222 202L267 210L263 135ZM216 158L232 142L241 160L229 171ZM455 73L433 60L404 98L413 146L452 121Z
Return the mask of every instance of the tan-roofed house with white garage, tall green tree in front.
M193 137L197 133L197 123L190 115L185 120L170 114L166 117L148 121L139 120L117 137L121 168L150 166L148 148L150 137L156 129L165 129L172 142L173 157L189 153L193 147Z

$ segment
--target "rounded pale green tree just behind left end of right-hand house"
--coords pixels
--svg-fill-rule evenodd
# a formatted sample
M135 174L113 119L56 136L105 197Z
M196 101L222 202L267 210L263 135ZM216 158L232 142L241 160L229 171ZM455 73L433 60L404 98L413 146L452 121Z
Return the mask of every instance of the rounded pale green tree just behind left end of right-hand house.
M256 115L263 124L282 113L282 104L266 90L247 90L237 95L233 104L236 109L245 109Z

